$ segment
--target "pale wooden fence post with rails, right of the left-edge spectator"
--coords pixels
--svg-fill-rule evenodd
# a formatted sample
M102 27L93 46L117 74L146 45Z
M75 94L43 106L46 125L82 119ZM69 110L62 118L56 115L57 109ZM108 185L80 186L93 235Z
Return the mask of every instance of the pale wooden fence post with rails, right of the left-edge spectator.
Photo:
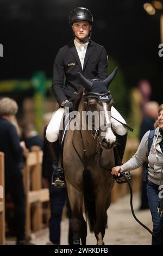
M29 238L31 228L35 232L42 228L42 203L49 201L49 191L42 188L41 163L42 151L33 147L32 152L26 152L24 167L24 187L26 191L26 237ZM33 210L33 212L31 212Z

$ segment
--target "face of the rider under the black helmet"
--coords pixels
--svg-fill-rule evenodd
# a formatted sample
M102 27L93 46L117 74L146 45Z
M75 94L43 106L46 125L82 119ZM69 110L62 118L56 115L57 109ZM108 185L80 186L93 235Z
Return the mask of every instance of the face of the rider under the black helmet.
M74 35L76 35L76 40L79 42L79 39L85 39L89 32L91 31L92 26L88 21L77 21L72 25L72 30Z

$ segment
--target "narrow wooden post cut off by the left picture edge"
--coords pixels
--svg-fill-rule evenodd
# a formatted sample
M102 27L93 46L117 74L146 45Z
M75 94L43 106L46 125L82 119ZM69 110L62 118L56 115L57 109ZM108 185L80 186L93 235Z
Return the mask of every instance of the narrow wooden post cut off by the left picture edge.
M5 245L4 153L0 152L0 245Z

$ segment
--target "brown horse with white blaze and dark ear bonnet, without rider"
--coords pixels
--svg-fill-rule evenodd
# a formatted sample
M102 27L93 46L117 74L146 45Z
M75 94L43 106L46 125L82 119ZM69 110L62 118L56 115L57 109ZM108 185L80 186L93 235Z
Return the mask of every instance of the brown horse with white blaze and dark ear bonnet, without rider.
M110 206L111 189L114 185L109 170L115 164L113 147L116 143L110 123L113 100L108 86L116 72L117 68L104 81L89 81L78 74L84 91L78 104L78 117L73 119L73 124L80 127L67 131L63 151L74 245L80 245L80 240L82 245L86 245L87 226L83 217L83 199L90 231L95 233L97 245L104 245L106 211ZM96 112L99 118L103 113L102 124L98 129L95 118L92 129L89 129L89 118L84 120L83 115L88 112Z

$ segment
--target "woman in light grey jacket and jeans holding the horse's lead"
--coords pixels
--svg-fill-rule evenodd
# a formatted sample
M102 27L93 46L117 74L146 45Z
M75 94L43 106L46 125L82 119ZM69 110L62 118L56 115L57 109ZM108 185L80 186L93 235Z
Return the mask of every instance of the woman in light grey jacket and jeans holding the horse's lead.
M163 245L163 104L158 109L155 121L153 143L148 155L147 131L133 157L122 166L112 168L111 174L120 176L120 172L134 170L143 165L148 157L147 197L153 221L152 245Z

